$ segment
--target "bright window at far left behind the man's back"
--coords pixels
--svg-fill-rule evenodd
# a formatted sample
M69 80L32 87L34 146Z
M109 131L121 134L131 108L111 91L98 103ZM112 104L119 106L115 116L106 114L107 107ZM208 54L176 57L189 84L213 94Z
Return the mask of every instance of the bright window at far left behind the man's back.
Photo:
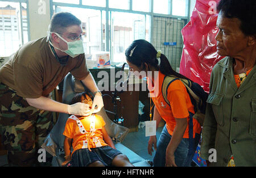
M1 2L0 19L0 56L10 56L28 42L27 4Z

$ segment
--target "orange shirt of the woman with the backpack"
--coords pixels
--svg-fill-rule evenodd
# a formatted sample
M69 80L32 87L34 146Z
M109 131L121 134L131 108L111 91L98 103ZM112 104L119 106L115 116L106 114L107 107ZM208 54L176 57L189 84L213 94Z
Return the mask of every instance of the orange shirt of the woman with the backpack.
M165 75L159 71L158 77L156 77L156 81L154 82L154 88L148 87L148 90L150 91L150 96L152 97L152 101L154 102L156 109L158 109L160 116L164 119L164 121L166 121L168 133L172 135L176 126L175 118L187 118L187 122L189 123L188 111L191 113L195 113L195 111L189 94L187 93L187 89L180 80L175 80L168 87L167 99L170 102L170 106L166 103L166 101L164 101L162 94L164 77ZM158 87L156 87L156 84L158 84ZM188 127L189 125L185 130L183 138L188 138ZM193 137L195 137L195 133L200 134L200 132L201 126L199 122L197 122L196 119L193 119Z

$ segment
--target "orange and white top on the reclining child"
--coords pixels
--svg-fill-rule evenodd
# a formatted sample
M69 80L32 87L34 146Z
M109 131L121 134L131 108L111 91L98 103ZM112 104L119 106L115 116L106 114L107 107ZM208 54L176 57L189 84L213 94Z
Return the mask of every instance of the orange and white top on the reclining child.
M79 121L81 121L82 125L84 126L84 129L87 132L86 134L81 133L76 120L72 119L72 116L73 115L71 115L71 117L69 117L66 122L63 135L73 139L73 142L72 142L73 152L81 149L84 146L84 142L83 142L84 140L89 140L89 143L88 143L89 148L96 148L96 144L93 142L93 137L97 137L98 141L101 143L101 146L108 145L104 142L103 134L101 132L102 127L105 126L105 122L100 115L94 114L95 129L96 129L96 131L94 131L94 135L90 134L90 123L92 122L93 115L91 117L79 118Z

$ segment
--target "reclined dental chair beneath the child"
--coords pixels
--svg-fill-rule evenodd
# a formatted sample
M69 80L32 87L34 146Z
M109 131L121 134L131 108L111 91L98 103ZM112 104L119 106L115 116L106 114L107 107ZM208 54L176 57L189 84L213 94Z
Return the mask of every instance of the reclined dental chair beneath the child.
M81 81L75 80L75 77L72 76L71 73L68 73L64 78L63 84L63 103L69 104L75 96L76 93L80 92L89 92L89 90L82 84ZM138 167L148 167L150 165L149 160L143 159L141 156L135 154L135 152L131 151L129 148L125 147L121 142L125 139L125 136L129 133L129 129L114 123L109 119L108 115L104 108L101 109L100 112L97 113L104 118L106 123L105 128L108 132L110 138L112 138L113 143L115 144L115 148L121 151L122 154L126 155L130 162L134 166ZM69 114L60 113L59 118L51 132L47 135L47 138L44 140L42 148L44 148L49 154L53 156L52 166L60 167L61 163L64 162L64 138L63 135L65 129L65 123Z

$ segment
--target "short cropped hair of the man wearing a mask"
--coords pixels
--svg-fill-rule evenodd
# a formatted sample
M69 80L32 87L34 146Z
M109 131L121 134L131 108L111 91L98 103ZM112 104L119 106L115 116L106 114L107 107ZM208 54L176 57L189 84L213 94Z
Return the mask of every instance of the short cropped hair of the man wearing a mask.
M49 30L51 32L63 32L63 28L81 25L81 20L77 19L75 15L67 12L56 13L52 16Z

